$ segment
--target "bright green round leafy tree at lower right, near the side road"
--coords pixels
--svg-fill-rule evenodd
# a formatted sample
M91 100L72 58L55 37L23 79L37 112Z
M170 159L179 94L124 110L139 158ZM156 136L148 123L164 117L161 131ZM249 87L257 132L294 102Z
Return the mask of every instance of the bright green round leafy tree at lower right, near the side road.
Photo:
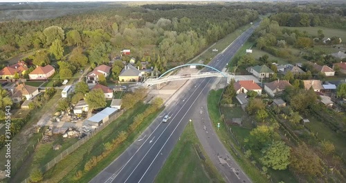
M268 148L262 150L264 156L260 158L260 161L274 170L286 170L290 163L290 150L291 148L283 141L272 141Z

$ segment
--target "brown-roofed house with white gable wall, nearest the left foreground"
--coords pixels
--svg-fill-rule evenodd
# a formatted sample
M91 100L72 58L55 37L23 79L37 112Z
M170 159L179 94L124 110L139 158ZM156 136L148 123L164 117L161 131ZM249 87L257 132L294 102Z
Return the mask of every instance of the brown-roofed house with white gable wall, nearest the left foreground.
M14 103L20 103L22 98L26 98L26 100L30 100L34 96L39 94L39 89L37 87L32 87L29 85L19 84L15 89L11 89L12 100Z

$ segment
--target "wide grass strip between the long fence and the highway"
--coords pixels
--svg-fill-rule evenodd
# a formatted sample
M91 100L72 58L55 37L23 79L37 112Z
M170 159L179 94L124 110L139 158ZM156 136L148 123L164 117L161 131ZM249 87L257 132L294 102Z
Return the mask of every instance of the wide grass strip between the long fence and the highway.
M145 130L147 125L152 123L156 116L163 110L157 110L154 114L149 115L145 118L145 121L141 123L140 127L129 134L129 137L123 142L116 150L108 155L100 162L98 166L95 166L91 171L84 174L80 180L74 180L75 173L84 170L84 164L91 157L95 155L100 155L104 149L104 143L107 143L115 139L119 132L127 131L129 125L133 122L134 116L143 113L149 105L144 105L143 103L138 103L136 107L131 110L127 110L124 114L118 117L116 121L110 123L106 128L99 132L94 137L89 139L84 143L78 150L75 150L69 156L65 157L61 162L56 164L48 172L44 173L44 179L46 182L89 182L95 175L107 167L111 162L113 162L116 157L118 157L131 143L138 137L140 130Z

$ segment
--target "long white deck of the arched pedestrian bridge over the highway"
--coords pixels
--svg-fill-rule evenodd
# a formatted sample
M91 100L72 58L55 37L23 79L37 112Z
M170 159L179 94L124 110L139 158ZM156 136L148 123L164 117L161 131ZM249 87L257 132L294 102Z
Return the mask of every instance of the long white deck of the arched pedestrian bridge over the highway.
M170 82L174 80L190 80L190 79L210 78L210 77L227 77L228 78L227 80L230 80L230 78L235 78L235 74L230 72L211 71L211 72L186 73L181 75L163 76L161 78L148 77L148 78L145 78L143 85L145 87L149 87L152 85L157 85L163 82Z

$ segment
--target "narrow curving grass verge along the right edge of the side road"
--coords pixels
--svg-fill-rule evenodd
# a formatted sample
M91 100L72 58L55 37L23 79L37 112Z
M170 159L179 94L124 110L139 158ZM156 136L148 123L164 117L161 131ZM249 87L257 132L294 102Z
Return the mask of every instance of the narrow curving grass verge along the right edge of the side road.
M212 120L213 125L217 126L217 123L221 123L221 128L217 131L217 135L219 136L220 141L224 143L224 146L228 149L228 152L230 152L239 164L239 166L242 167L243 171L248 175L248 177L251 178L253 182L268 182L266 177L260 173L260 171L251 164L251 162L244 157L242 153L239 153L239 147L234 146L234 142L232 140L232 137L230 137L230 134L226 127L224 126L224 123L220 120L220 113L219 113L219 98L222 94L222 89L219 89L217 91L212 90L210 91L208 95L208 113L210 116L210 119ZM233 145L231 145L233 144ZM233 147L237 148L237 152L233 150ZM239 155L239 157L236 155Z

